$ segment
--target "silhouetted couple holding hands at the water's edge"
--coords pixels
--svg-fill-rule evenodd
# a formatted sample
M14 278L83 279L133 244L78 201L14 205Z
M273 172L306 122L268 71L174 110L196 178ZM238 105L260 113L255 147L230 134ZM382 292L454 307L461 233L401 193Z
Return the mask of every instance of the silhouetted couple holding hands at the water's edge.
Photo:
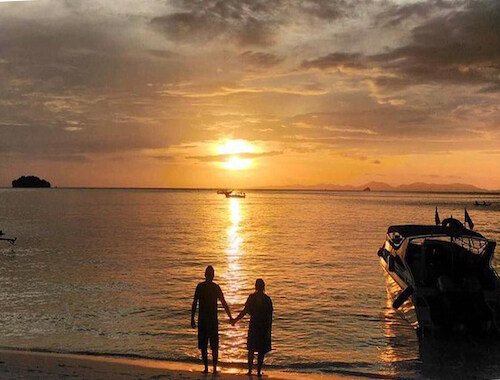
M234 326L246 314L250 314L248 329L248 374L252 374L254 354L257 352L257 376L262 375L264 355L271 351L271 327L273 319L273 303L264 293L264 280L255 281L255 293L250 294L241 313L233 319L224 294L214 280L214 268L210 265L205 270L205 281L196 287L191 309L191 327L196 328L194 316L196 306L200 303L198 312L198 348L205 365L204 373L208 373L208 342L212 349L214 373L217 372L219 358L219 321L217 316L217 301L220 300L230 323Z

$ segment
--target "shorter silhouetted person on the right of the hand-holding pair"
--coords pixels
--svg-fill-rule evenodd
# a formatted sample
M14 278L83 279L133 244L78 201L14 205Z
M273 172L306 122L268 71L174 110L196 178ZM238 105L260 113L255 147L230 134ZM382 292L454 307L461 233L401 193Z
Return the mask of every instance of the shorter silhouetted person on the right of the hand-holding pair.
M245 308L233 320L234 326L245 314L250 314L250 326L248 328L248 375L252 374L253 358L257 352L257 376L262 376L262 365L264 355L271 351L271 328L273 324L273 302L264 293L264 280L255 281L255 293L248 296Z

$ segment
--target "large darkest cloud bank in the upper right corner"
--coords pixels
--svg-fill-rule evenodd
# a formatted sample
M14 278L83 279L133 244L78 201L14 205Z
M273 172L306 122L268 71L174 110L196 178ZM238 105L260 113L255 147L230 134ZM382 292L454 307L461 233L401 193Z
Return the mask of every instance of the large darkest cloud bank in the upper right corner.
M420 9L421 5L411 7ZM397 9L408 13L408 7ZM473 1L464 9L459 7L415 27L409 42L401 47L374 55L335 52L306 60L302 67L364 70L381 88L429 82L483 83L495 88L500 83L499 46L500 2Z

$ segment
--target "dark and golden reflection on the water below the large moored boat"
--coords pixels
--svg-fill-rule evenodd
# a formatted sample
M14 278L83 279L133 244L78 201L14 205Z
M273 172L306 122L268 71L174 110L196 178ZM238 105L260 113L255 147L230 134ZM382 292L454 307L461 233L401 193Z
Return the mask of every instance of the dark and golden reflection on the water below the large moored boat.
M500 377L500 337L444 335L416 330L388 303L384 312L387 345L381 358L391 378L491 379Z

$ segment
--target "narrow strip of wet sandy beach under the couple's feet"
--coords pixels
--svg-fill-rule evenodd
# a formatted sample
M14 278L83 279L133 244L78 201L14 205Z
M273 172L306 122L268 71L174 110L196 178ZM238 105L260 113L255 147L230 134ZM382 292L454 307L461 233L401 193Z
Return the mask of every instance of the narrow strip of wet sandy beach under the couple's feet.
M38 351L0 350L0 378L10 379L150 379L150 380L242 380L249 379L242 368L221 367L220 372L202 374L198 364L99 355L78 355ZM343 375L312 375L266 371L269 380L349 379ZM358 377L356 377L358 378ZM251 379L257 379L256 376Z

